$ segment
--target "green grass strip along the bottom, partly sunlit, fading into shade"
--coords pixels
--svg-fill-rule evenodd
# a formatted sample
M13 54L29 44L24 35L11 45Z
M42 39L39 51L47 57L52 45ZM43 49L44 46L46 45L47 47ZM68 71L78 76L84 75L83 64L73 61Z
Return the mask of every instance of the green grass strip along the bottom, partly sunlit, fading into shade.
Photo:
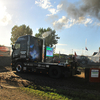
M61 89L53 89L47 86L28 86L21 88L35 96L39 96L44 100L99 100L100 96L94 94L87 94L80 91L69 91Z

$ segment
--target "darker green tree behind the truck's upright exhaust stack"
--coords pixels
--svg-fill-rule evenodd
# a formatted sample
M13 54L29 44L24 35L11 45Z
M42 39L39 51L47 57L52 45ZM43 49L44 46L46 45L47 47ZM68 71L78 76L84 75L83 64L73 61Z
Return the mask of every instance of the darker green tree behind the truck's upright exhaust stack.
M58 43L58 39L60 39L60 37L58 37L58 35L55 34L56 31L52 30L49 27L47 29L40 28L38 31L39 33L36 33L35 37L42 37L42 34L44 32L51 31L51 34L45 39L47 46L53 47L55 44Z

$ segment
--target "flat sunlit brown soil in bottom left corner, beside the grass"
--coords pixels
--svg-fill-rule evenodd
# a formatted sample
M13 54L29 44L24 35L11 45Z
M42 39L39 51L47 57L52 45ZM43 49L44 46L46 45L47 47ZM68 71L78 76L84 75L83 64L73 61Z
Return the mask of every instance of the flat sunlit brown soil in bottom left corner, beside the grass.
M0 100L40 100L18 88L0 88Z

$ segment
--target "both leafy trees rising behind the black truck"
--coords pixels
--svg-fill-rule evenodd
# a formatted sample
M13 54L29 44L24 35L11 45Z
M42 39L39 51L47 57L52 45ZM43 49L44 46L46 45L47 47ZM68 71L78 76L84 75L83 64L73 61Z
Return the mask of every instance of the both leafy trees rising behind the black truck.
M35 37L42 37L42 34L44 32L48 32L50 31L51 34L46 37L46 45L56 48L56 44L58 43L58 39L60 39L60 37L58 37L58 34L56 34L55 30L52 30L50 27L46 28L39 28L38 29L38 33L35 34ZM17 26L15 25L12 28L11 31L11 45L15 44L16 40L18 39L18 37L23 36L23 35L33 35L33 31L29 26L26 25L21 25L21 26Z

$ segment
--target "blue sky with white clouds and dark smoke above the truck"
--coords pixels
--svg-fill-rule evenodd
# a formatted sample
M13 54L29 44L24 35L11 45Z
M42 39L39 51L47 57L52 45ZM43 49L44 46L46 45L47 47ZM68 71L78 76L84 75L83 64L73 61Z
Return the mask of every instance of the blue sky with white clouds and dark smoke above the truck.
M23 24L33 36L39 28L55 30L60 37L55 53L99 51L100 0L0 0L0 45L11 46L12 28Z

